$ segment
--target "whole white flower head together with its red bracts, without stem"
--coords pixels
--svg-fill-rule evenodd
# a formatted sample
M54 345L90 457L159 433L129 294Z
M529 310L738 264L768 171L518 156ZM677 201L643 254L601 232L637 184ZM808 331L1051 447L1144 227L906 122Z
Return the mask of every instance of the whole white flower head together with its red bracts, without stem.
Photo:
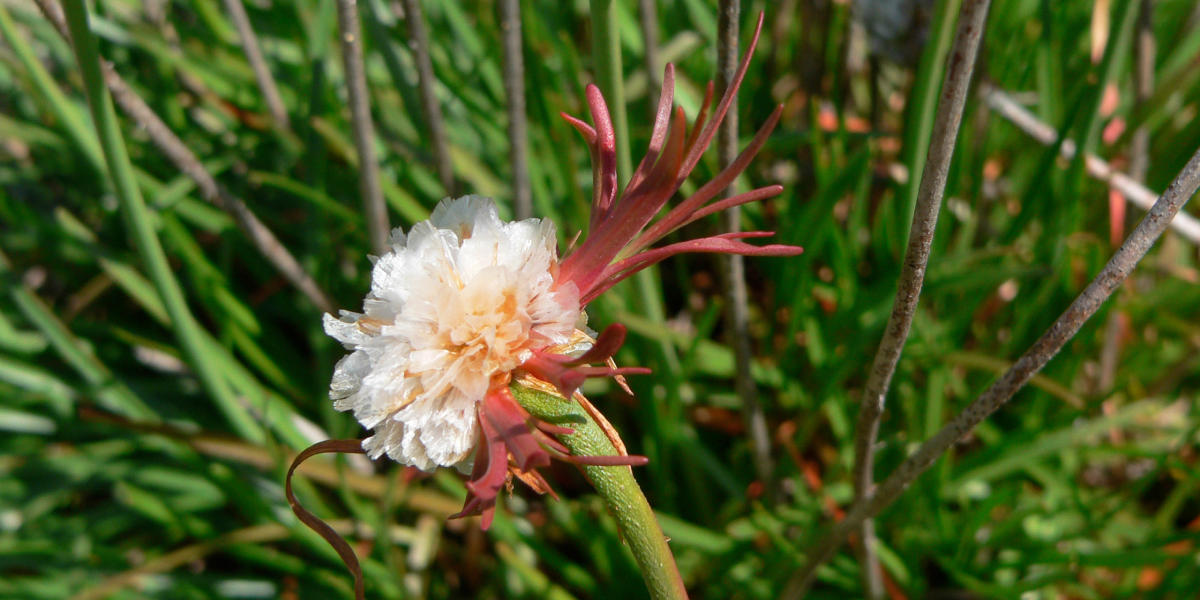
M337 364L330 396L374 434L362 442L372 458L431 470L464 467L474 456L467 500L456 516L481 515L486 529L496 498L520 476L538 491L536 469L552 458L576 464L644 464L637 456L578 456L557 436L569 427L530 415L509 384L546 384L574 398L587 378L647 373L617 367L625 328L586 330L583 307L630 275L668 257L694 253L796 256L802 248L746 240L770 232L736 232L655 245L696 220L779 194L769 185L718 199L767 142L776 107L746 149L713 180L666 210L698 164L733 104L762 30L762 16L725 95L712 106L709 84L691 131L674 103L667 65L646 158L624 188L617 186L616 131L599 88L584 90L593 125L565 116L583 134L593 161L592 216L583 241L559 259L548 221L505 223L487 198L443 200L371 274L364 313L325 316L325 331L353 350ZM595 366L604 364L606 366ZM518 376L514 378L514 376ZM538 385L534 385L538 384ZM622 448L620 444L617 444Z

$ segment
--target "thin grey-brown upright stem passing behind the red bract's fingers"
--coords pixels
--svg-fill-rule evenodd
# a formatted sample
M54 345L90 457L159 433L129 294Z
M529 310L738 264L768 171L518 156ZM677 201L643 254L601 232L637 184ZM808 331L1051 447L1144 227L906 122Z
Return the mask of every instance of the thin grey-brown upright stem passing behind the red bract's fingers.
M715 96L721 97L728 89L738 68L738 22L742 11L740 0L721 0L718 7L716 18L716 91ZM733 97L730 112L716 130L716 160L721 167L727 167L738 156L738 101ZM724 196L730 197L737 193L736 184L731 184L725 190ZM742 229L742 208L733 206L726 209L721 215L721 226L725 233L736 233ZM768 500L773 494L772 485L772 460L770 460L770 434L767 431L767 416L762 404L758 402L758 391L755 389L754 377L750 373L750 360L752 350L750 347L750 307L749 294L745 282L745 262L739 254L722 257L722 271L725 280L728 305L726 306L726 319L728 319L730 341L733 346L733 355L737 365L734 382L738 396L742 398L743 415L746 421L746 431L750 432L750 443L754 451L755 475L767 490Z

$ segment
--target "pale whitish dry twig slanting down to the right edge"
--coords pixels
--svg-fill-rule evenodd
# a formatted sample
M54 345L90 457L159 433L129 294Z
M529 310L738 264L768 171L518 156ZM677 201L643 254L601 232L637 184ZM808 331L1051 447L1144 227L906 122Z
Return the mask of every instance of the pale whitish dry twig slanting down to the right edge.
M1033 113L1026 110L1025 107L1013 100L1013 97L1003 90L998 90L986 84L980 85L979 88L984 102L988 103L988 108L995 110L998 115L1018 126L1033 139L1045 145L1054 144L1058 139L1058 132L1055 131L1054 127L1039 120L1033 115ZM1073 139L1064 139L1062 142L1062 156L1068 160L1073 158L1075 156L1075 142ZM1094 155L1087 155L1084 162L1087 167L1087 173L1090 173L1093 178L1112 186L1116 191L1121 192L1126 199L1145 210L1150 210L1154 205L1154 199L1158 198L1158 196L1153 191L1139 184L1129 175L1114 169L1103 158ZM1170 224L1176 233L1187 240L1193 244L1200 244L1200 221L1196 221L1196 218L1192 215L1180 212L1175 216Z

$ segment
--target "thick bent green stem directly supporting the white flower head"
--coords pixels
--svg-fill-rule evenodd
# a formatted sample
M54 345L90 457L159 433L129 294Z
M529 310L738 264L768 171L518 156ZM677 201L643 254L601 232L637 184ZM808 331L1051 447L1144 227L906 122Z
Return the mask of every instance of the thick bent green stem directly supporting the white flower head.
M558 437L571 454L618 455L604 430L578 402L568 402L558 396L521 385L512 386L512 396L533 416L575 430L569 436ZM667 546L667 539L662 535L662 528L659 527L654 511L650 510L650 504L646 502L642 488L634 479L632 470L629 467L583 467L583 473L617 518L625 544L634 551L634 558L642 569L650 598L686 599L688 590L683 587L674 556Z

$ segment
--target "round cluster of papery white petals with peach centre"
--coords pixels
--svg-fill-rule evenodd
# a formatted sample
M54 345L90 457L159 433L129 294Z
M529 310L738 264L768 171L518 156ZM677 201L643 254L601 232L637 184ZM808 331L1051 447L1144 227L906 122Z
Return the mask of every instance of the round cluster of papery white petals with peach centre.
M446 199L376 260L364 313L325 316L325 332L353 350L330 397L386 454L424 470L458 466L479 442L476 404L535 350L568 343L578 292L556 281L554 224L503 222L479 196Z

